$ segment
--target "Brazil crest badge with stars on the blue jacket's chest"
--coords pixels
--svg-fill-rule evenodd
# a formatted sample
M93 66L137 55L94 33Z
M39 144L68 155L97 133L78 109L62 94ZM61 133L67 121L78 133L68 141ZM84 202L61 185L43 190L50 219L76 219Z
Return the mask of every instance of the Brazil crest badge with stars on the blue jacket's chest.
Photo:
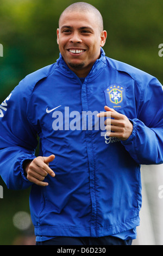
M120 84L111 84L104 90L105 102L108 107L122 108L126 105L126 88Z

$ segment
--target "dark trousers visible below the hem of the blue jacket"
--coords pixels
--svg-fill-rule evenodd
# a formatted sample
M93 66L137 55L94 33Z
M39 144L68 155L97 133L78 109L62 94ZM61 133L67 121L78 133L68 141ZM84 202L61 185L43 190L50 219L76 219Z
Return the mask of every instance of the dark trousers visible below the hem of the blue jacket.
M114 236L103 237L69 237L56 236L43 242L36 242L36 245L131 245L133 240L122 240Z

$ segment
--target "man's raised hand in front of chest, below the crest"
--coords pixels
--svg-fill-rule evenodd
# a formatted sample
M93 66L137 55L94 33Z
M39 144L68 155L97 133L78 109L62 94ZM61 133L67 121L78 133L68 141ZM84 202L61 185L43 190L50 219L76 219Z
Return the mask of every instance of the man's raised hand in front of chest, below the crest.
M104 123L107 131L106 135L126 141L133 132L133 124L126 115L120 114L108 106L105 106L104 109L106 112L99 113L97 117L106 117L108 116L107 112L110 112L110 118L106 119Z

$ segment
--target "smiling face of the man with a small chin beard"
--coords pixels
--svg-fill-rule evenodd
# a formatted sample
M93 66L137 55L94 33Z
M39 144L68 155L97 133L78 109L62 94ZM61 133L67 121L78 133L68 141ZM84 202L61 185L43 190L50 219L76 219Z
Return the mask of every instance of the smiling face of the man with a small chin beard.
M57 29L59 50L68 67L86 77L100 56L106 32L100 31L93 13L65 13Z

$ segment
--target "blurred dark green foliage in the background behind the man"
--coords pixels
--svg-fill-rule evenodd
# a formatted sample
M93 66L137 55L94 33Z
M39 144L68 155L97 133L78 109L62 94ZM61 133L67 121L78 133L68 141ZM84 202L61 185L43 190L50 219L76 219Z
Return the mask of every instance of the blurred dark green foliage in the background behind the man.
M71 0L0 0L0 102L30 72L54 63L59 57L58 19ZM163 1L161 0L93 0L104 19L108 38L106 56L136 66L163 82ZM1 132L1 131L0 131ZM10 245L20 235L12 224L16 211L29 212L29 192L4 188L0 199L0 245ZM23 235L23 234L22 234Z

